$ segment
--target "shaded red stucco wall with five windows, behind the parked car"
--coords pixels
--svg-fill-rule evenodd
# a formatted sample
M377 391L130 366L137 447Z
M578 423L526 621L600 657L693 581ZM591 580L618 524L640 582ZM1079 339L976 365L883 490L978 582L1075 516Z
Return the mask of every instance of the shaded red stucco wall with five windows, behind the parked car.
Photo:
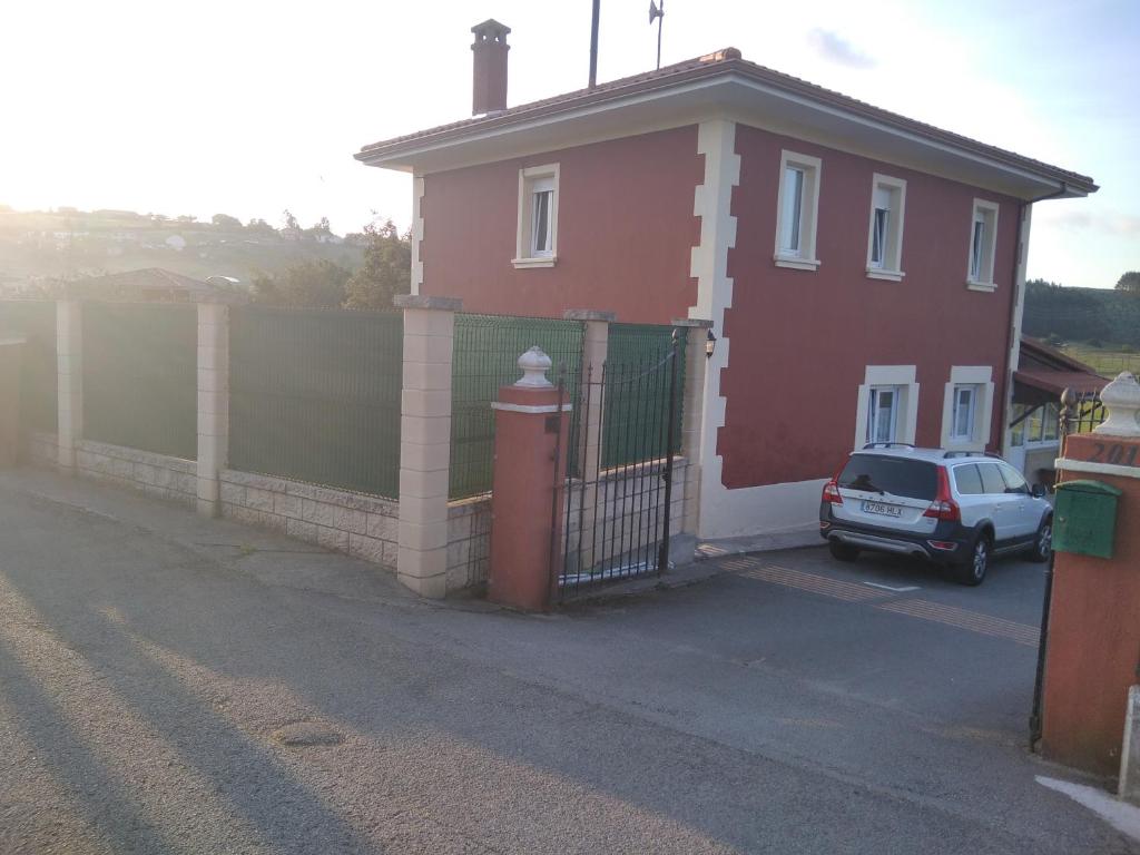
M774 266L780 154L822 158L815 271ZM938 446L953 365L993 366L991 448L1000 446L1018 230L1015 199L744 125L732 199L736 247L724 333L730 365L717 438L728 488L833 474L855 434L868 365L914 365L915 441ZM866 277L872 173L906 180L903 282ZM1000 204L994 293L966 287L974 198Z

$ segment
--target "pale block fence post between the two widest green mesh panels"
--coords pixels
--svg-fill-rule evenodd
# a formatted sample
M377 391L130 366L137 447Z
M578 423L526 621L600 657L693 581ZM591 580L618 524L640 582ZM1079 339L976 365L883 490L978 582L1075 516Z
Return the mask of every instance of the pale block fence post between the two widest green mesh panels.
M198 303L197 507L220 516L219 475L229 465L229 307Z

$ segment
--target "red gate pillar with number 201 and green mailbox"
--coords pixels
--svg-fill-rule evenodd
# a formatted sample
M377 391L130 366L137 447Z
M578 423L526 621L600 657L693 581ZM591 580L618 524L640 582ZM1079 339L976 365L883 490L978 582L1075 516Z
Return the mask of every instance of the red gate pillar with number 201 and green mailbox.
M1140 386L1122 375L1101 394L1109 421L1066 438L1057 467L1062 483L1092 479L1122 491L1113 556L1056 555L1041 749L1066 765L1116 775L1129 687L1140 678L1140 423L1117 398L1135 398Z

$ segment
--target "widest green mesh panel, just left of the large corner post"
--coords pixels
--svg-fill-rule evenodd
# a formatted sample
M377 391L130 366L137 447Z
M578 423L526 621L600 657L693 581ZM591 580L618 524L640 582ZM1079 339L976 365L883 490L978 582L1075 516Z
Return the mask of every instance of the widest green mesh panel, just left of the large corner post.
M402 355L399 312L233 309L230 465L396 498Z

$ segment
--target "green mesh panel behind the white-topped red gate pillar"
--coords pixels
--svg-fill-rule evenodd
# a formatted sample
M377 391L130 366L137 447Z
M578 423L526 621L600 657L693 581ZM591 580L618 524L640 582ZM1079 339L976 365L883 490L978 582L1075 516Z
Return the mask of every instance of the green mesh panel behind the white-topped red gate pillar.
M491 401L499 386L516 381L523 351L537 344L560 370L575 400L581 375L584 325L577 320L516 318L497 315L456 315L451 360L453 499L491 489L495 415Z

